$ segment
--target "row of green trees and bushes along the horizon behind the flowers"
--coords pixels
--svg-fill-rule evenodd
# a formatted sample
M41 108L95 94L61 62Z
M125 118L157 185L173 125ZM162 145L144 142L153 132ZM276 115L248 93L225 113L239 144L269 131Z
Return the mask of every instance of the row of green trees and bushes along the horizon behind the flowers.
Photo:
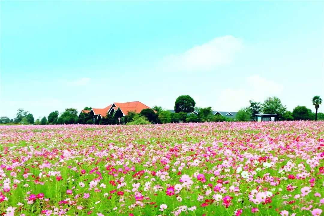
M33 115L24 109L18 109L16 118L0 117L0 123L21 123L21 124L162 124L179 122L218 122L218 121L248 121L256 119L257 113L276 114L277 120L324 120L324 114L318 112L322 99L319 96L312 98L312 104L316 112L306 106L296 106L293 111L288 111L278 97L268 97L263 103L254 100L249 101L249 106L238 110L236 118L228 118L221 115L213 115L211 107L196 107L196 102L189 95L179 96L174 105L174 113L163 109L161 106L154 106L152 109L143 109L140 113L128 112L127 116L122 116L118 109L113 114L107 114L101 119L94 118L93 114L81 113L75 108L66 108L59 114L55 110L47 118L34 120ZM85 107L84 110L91 110ZM198 115L192 114L196 111ZM120 119L120 120L119 120Z

